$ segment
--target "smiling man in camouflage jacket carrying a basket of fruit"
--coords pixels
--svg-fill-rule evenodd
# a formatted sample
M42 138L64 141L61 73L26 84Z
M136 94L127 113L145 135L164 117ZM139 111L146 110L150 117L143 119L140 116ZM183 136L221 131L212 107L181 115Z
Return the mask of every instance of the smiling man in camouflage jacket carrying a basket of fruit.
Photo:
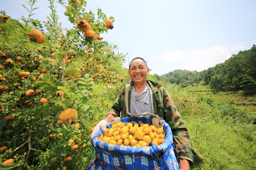
M128 95L129 112L131 114L154 113L169 124L173 133L175 154L180 170L189 170L189 164L202 164L202 158L191 148L188 130L170 95L160 84L147 80L149 68L145 60L141 57L132 59L128 73L131 77ZM106 118L94 128L92 137L99 129L105 131L106 125L115 117L129 116L126 113L124 101L125 88L122 88Z

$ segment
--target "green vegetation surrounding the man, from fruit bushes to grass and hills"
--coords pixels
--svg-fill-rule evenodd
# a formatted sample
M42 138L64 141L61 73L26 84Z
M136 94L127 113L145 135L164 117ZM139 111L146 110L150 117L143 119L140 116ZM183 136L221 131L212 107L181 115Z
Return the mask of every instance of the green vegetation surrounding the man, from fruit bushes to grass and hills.
M59 0L74 24L70 30L62 29L53 0L48 1L52 13L44 25L30 19L36 0L29 0L29 7L23 5L29 16L22 16L22 23L0 11L5 15L0 19L1 170L86 169L95 156L91 129L128 83L128 70L122 67L126 54L100 37L115 31L115 19L100 8L95 16L85 9L85 0ZM43 38L31 30L43 30ZM175 70L148 77L169 91L189 129L193 149L204 158L203 165L191 169L256 168L256 116L248 110L256 101L253 96L241 97L253 91L254 51L255 46L202 72ZM241 67L234 65L237 60ZM228 74L235 66L237 74ZM227 71L227 78L237 84L229 79L218 90L243 91L227 95L202 86L205 81L217 90L212 80L219 70ZM169 81L172 77L179 85Z

